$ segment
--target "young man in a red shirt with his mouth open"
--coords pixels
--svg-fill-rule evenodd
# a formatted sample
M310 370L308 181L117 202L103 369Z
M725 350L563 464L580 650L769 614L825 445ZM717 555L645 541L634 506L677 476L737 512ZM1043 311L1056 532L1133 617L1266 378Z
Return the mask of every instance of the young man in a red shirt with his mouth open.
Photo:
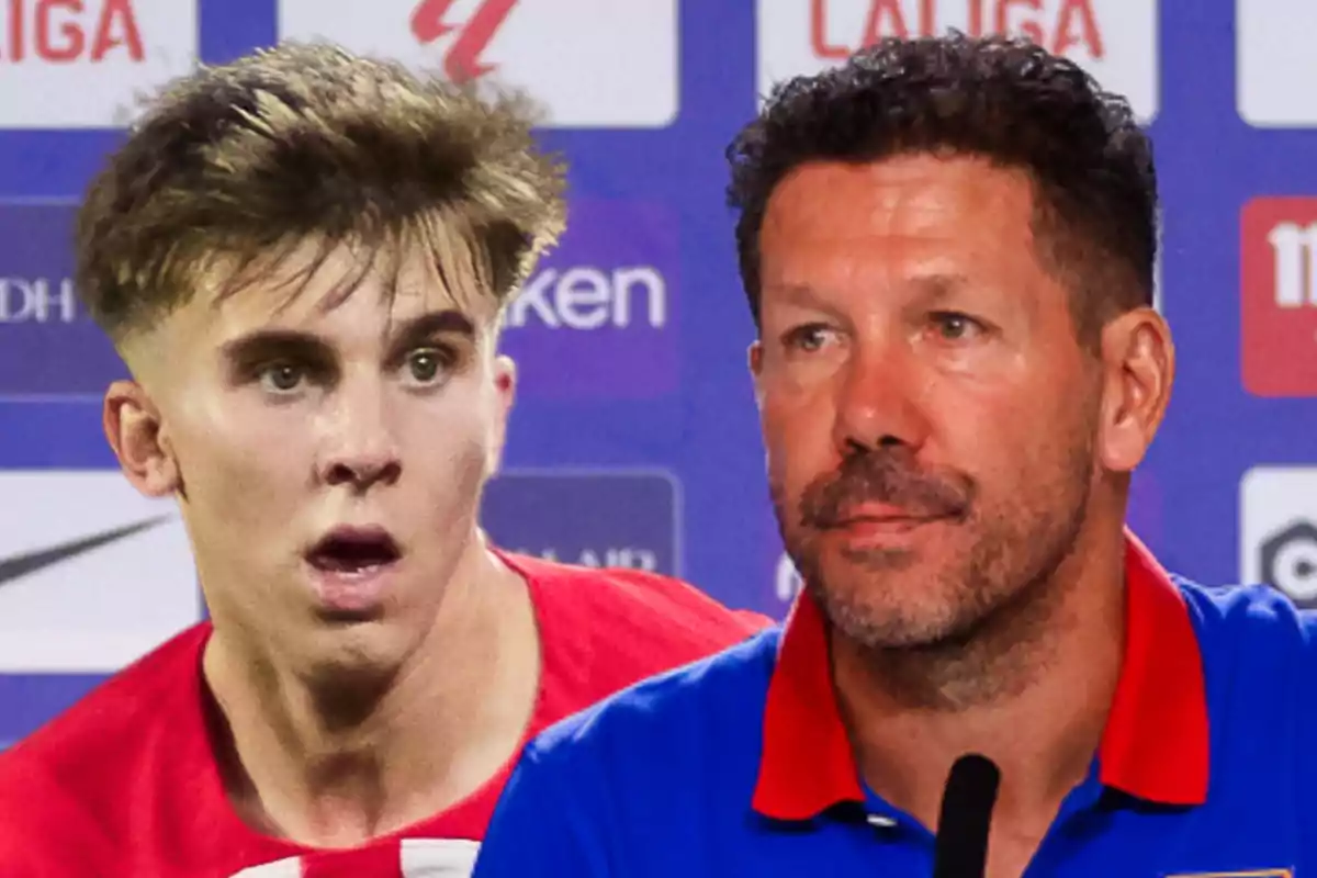
M5 878L466 874L531 735L766 623L478 528L500 307L564 225L529 109L287 45L176 83L95 180L105 432L211 623L0 757Z

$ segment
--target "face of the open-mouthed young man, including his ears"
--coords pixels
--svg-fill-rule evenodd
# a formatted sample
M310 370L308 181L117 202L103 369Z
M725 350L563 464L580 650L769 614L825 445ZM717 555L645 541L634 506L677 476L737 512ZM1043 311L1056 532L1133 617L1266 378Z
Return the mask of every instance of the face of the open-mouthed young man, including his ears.
M458 307L419 253L346 297L348 249L300 291L296 269L167 317L107 429L141 490L179 499L217 636L304 673L389 673L478 550L512 366L494 303Z

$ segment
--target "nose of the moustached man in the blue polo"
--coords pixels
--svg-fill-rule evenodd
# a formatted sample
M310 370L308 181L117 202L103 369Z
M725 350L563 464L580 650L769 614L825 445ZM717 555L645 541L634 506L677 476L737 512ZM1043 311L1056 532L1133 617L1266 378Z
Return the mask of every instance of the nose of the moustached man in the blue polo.
M838 453L880 448L919 450L930 424L919 396L928 380L913 358L890 344L856 345L856 353L836 384L834 442Z

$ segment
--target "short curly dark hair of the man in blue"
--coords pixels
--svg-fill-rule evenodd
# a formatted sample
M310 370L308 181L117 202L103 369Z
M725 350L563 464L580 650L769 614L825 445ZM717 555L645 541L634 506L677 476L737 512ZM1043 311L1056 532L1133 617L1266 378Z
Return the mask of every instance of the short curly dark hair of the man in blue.
M727 147L756 325L760 228L782 178L813 161L910 153L981 157L1030 175L1039 258L1076 294L1081 336L1151 304L1156 171L1129 103L1029 41L954 32L884 39L844 66L778 84Z

